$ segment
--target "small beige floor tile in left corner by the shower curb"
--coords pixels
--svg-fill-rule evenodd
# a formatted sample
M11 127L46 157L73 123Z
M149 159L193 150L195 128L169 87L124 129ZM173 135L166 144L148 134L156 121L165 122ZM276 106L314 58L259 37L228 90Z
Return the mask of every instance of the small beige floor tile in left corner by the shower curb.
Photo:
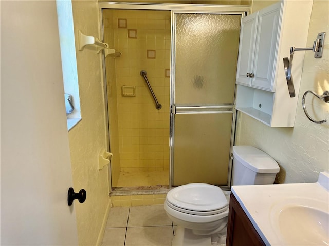
M112 207L106 223L106 228L126 227L129 207Z

